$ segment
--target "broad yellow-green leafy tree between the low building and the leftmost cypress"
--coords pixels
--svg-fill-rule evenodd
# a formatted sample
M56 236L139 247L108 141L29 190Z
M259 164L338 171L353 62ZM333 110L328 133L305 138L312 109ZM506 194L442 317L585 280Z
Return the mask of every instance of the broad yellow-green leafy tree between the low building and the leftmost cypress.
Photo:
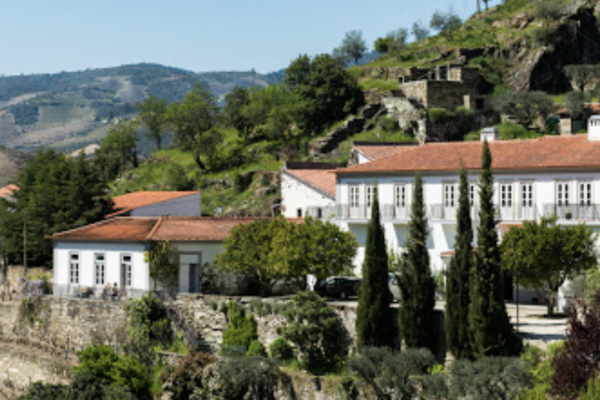
M234 227L215 265L256 278L263 295L279 280L307 274L338 275L352 267L358 245L351 233L330 222L306 218L302 224L283 217Z

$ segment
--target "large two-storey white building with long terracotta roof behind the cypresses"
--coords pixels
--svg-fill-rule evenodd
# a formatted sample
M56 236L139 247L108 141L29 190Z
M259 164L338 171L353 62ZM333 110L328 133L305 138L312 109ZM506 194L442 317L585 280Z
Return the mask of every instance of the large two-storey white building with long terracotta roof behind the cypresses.
M557 215L561 224L586 223L600 230L600 118L590 135L492 141L495 201L500 232L525 220ZM494 139L490 132L488 139ZM468 169L474 223L481 142L432 143L336 170L336 221L357 237L357 269L364 257L367 223L375 192L390 248L402 251L410 218L415 171L421 171L428 247L434 272L446 268L456 235L458 169ZM534 297L534 294L530 294Z

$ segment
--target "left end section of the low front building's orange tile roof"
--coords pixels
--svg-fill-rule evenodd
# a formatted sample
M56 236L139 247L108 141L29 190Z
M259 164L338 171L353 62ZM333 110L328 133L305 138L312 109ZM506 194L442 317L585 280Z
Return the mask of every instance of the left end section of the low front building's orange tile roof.
M145 241L158 220L158 217L118 217L56 233L48 239L109 242Z

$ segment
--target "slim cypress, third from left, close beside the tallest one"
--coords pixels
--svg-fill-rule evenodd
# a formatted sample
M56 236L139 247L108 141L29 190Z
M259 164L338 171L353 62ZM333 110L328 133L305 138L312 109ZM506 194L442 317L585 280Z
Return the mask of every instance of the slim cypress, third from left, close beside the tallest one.
M469 203L467 170L461 167L458 210L456 211L456 243L454 256L446 275L446 345L456 358L471 358L469 335L469 281L473 268L473 226Z

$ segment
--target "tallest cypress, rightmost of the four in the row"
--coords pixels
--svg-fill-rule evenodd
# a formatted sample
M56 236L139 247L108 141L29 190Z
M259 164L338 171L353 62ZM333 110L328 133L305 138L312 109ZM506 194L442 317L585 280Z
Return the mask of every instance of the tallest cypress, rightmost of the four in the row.
M512 328L504 304L500 250L494 214L492 155L483 143L479 181L479 227L477 251L471 273L469 325L473 355L500 356L510 353Z

